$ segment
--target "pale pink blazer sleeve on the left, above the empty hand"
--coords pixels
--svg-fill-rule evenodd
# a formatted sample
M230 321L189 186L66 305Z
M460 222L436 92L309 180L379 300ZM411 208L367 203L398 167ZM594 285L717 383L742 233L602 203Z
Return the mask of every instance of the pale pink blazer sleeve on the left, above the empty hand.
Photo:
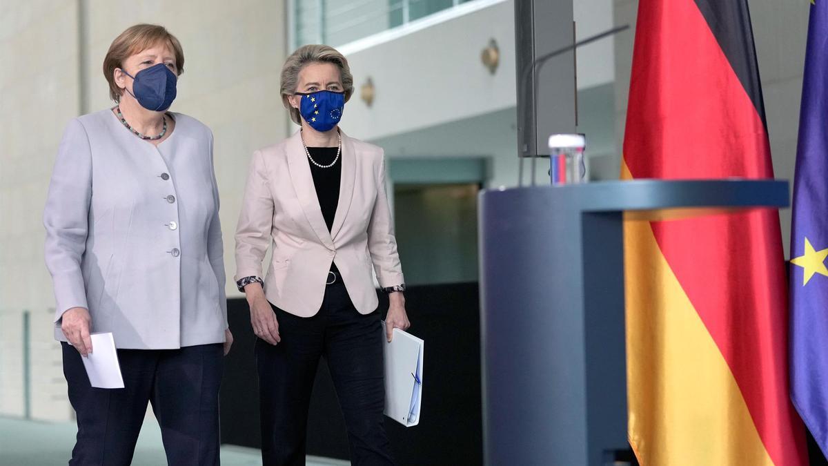
M273 197L261 151L253 153L236 226L236 277L262 277L262 261L270 245Z

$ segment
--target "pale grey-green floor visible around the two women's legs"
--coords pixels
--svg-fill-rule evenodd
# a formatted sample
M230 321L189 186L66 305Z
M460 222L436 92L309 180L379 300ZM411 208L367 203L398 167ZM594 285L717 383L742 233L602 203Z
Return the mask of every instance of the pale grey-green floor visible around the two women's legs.
M75 444L75 423L51 423L0 417L0 466L55 466L67 464ZM138 437L133 466L166 464L161 445L161 430L147 416ZM257 449L222 445L222 466L258 466ZM346 461L308 457L307 466L344 466Z

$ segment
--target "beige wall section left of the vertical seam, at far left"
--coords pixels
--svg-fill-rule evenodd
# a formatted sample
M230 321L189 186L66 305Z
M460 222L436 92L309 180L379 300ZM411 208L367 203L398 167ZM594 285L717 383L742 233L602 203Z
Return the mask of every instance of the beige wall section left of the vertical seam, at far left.
M13 7L12 7L13 3ZM31 414L65 418L49 342L51 279L40 216L66 122L79 113L77 2L2 2L0 10L0 414L23 415L22 311L31 311ZM35 349L36 347L37 349ZM43 351L46 350L46 351ZM65 399L65 396L62 396Z

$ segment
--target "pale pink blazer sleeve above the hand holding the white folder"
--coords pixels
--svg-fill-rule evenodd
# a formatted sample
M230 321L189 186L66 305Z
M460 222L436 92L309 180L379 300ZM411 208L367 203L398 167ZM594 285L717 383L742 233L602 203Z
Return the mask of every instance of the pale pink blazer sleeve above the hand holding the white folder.
M368 252L371 254L373 269L381 288L405 283L402 277L400 256L397 254L397 238L388 206L385 183L385 154L380 152L377 177L377 199L373 204L371 221L368 223Z

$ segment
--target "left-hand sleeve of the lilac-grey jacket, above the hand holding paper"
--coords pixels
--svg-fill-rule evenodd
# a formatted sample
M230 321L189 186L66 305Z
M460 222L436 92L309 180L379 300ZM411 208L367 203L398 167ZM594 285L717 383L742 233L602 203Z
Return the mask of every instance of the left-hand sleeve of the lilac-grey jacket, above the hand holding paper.
M80 269L89 233L92 151L83 124L73 119L60 141L43 226L46 267L55 289L55 322L70 308L89 308Z

